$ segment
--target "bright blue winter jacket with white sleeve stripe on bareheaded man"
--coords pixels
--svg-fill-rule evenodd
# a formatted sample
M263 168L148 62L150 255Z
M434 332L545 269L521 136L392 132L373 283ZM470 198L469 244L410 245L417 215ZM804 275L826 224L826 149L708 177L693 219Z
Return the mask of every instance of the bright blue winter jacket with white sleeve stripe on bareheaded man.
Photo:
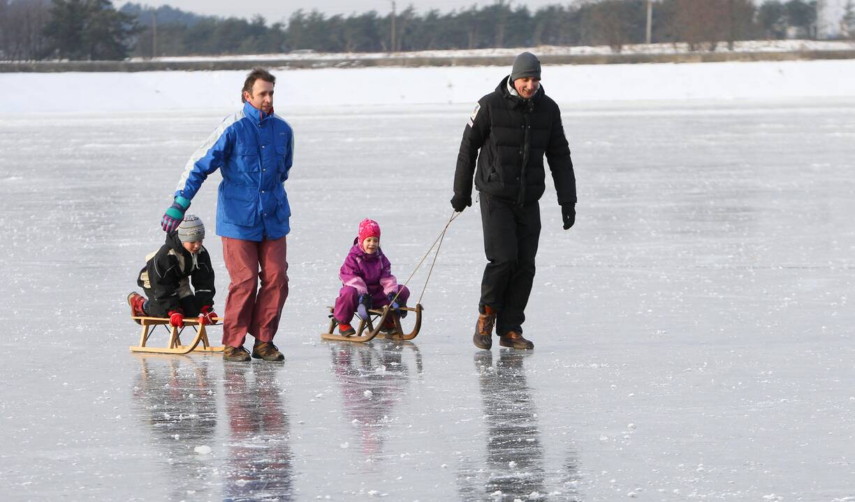
M284 182L294 159L294 133L276 114L249 102L222 121L193 154L175 196L192 200L205 178L220 169L216 233L245 241L278 239L291 231Z

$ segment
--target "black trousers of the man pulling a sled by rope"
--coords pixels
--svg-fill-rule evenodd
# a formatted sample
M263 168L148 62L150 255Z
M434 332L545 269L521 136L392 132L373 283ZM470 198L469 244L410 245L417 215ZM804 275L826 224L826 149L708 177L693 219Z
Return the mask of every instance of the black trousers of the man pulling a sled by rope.
M522 333L540 240L540 203L517 206L481 193L481 225L489 261L481 279L481 306L497 312L498 335Z

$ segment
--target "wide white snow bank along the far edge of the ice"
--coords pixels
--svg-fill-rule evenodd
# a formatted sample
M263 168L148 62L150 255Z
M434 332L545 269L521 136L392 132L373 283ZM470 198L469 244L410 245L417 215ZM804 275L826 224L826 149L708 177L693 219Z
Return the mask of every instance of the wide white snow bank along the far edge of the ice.
M470 103L506 67L280 70L279 108ZM234 108L245 72L0 73L0 114ZM855 96L855 60L545 66L557 102ZM14 97L13 97L14 96Z

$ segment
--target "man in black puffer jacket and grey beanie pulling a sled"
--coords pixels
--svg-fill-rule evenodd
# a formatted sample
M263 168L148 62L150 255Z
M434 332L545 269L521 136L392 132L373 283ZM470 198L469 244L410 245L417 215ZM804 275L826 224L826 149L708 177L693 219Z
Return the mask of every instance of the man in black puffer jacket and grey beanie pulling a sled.
M540 87L540 61L523 52L510 75L478 102L457 155L451 206L463 211L472 205L474 175L489 261L481 280L476 347L492 347L495 324L503 347L534 348L522 337L522 322L540 239L544 155L567 230L576 218L576 180L561 111Z

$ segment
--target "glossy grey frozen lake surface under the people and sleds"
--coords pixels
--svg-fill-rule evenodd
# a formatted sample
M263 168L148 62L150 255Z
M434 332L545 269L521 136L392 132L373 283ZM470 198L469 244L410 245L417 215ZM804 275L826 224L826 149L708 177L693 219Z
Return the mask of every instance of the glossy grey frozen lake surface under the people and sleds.
M445 225L470 110L280 102L278 365L127 349L162 211L232 110L0 121L3 499L855 500L855 100L565 104L579 215L547 189L534 352L472 345L476 207L414 342L321 341L360 219L401 282ZM218 181L191 213L221 312Z

